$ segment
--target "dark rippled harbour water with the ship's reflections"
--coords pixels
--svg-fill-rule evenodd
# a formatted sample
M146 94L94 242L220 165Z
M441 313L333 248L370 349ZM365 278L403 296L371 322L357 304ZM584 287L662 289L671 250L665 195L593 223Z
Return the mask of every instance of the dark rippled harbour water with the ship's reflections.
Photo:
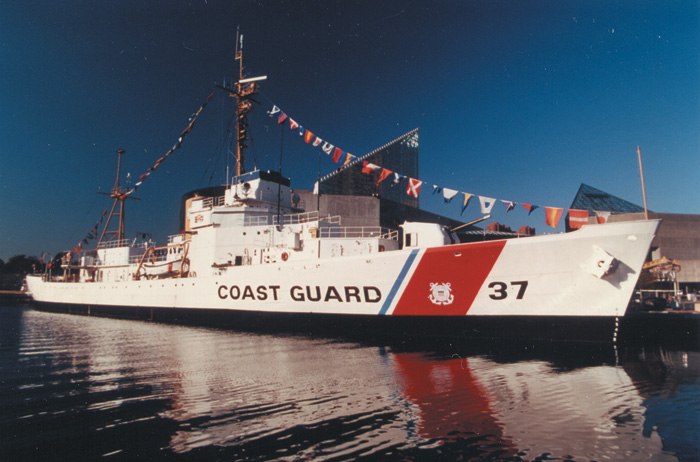
M700 460L700 353L0 307L2 460Z

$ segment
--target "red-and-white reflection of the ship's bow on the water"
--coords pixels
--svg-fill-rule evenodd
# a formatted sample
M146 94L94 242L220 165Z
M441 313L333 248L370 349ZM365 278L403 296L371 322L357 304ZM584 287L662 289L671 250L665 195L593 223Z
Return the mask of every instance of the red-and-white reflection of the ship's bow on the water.
M641 437L644 408L618 367L562 372L541 361L497 364L479 357L436 365L421 355L397 355L396 362L423 438L487 435L500 457L631 460L662 452L658 435L620 438Z

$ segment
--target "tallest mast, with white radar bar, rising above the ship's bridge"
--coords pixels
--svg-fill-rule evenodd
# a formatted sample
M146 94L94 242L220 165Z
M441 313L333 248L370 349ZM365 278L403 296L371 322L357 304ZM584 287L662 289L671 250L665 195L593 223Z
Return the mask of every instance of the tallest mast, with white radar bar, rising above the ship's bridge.
M253 103L260 104L254 96L258 94L257 82L267 76L244 78L243 34L236 30L236 61L238 61L238 81L230 86L218 86L236 98L236 176L245 173L245 149L248 141L248 113L253 110ZM228 180L227 180L228 181Z

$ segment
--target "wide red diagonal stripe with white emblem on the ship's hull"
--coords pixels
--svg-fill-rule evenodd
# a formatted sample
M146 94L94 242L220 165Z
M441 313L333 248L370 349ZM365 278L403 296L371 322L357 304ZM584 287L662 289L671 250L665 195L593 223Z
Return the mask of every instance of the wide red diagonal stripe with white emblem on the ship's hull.
M492 241L426 249L392 314L464 316L505 245Z

